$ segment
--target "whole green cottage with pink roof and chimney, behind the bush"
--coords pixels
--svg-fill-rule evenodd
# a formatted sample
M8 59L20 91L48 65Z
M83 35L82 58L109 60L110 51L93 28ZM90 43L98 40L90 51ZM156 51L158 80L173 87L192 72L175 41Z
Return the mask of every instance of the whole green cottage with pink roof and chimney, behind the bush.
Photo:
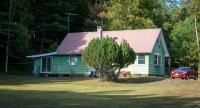
M165 75L168 49L160 28L68 33L55 52L26 56L34 58L34 74L69 75L84 77L91 68L82 64L81 54L93 38L112 37L118 44L127 40L137 54L135 63L121 71L137 75Z

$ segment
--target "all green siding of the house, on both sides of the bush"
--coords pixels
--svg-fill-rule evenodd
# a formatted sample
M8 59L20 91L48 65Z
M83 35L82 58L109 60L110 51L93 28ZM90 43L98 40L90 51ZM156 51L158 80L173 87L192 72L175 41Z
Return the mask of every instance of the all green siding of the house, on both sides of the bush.
M161 65L154 65L154 54L161 55ZM162 44L155 44L151 54L145 54L145 64L138 64L138 55L134 64L129 65L127 68L121 69L121 71L130 71L131 74L145 74L145 75L165 75L165 54ZM88 67L82 63L81 55L76 55L76 65L70 65L69 55L53 55L52 57L52 71L46 72L47 74L70 74L71 70L78 75L85 75L88 72ZM34 60L34 73L41 68L41 57Z

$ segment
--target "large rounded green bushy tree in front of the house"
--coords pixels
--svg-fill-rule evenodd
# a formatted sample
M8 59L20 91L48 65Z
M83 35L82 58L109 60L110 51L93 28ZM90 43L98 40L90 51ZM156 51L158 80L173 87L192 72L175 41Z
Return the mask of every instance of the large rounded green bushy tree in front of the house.
M100 78L115 79L115 69L127 67L134 63L135 52L127 41L123 40L119 46L112 38L93 39L82 54L84 65L94 67Z

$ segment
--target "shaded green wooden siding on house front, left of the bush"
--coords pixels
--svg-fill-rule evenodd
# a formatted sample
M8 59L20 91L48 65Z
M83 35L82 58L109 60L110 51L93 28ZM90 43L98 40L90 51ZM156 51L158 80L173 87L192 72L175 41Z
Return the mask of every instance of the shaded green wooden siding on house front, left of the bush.
M75 74L85 74L88 71L88 68L82 65L81 55L76 55L76 65L73 66L69 64L69 55L53 55L48 57L52 57L52 71L46 72L47 74L70 74L71 70ZM36 72L38 66L41 68L41 57L34 60L34 72Z

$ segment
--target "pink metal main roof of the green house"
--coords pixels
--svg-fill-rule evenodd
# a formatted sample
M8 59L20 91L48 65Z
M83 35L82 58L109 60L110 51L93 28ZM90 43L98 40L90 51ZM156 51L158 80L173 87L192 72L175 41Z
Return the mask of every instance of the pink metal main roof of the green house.
M161 29L103 31L103 37L113 37L118 44L125 39L136 53L151 53L160 32ZM97 37L96 31L68 33L56 51L59 55L82 54L88 43Z

